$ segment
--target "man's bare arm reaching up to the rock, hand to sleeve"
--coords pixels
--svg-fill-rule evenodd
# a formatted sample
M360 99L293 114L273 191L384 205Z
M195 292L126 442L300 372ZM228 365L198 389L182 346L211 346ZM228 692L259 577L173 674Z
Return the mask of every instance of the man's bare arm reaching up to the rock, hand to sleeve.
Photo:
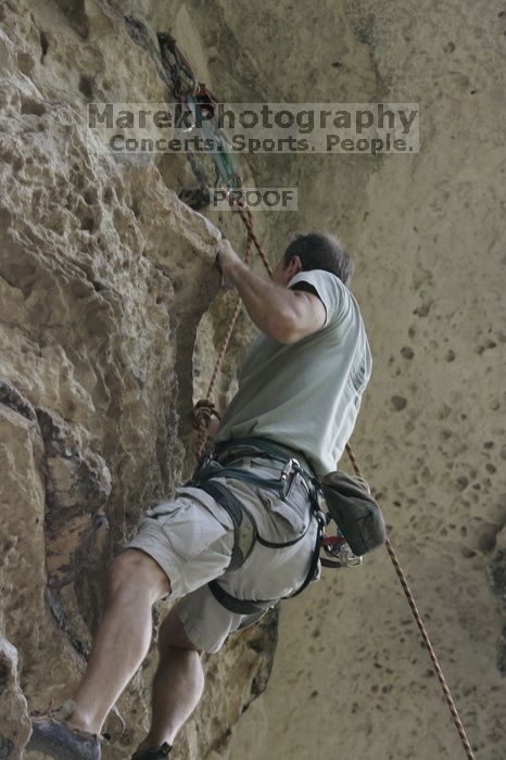
M251 319L269 338L294 343L324 326L325 306L317 295L264 280L239 258L228 241L222 243L219 263L226 282L238 289Z

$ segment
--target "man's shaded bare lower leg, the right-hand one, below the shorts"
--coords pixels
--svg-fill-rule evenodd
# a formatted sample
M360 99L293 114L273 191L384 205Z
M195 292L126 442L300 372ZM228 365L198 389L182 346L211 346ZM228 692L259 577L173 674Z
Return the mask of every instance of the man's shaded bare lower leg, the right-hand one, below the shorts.
M172 608L160 628L160 663L153 680L152 722L139 749L174 744L176 734L200 701L204 689L201 651L187 638Z

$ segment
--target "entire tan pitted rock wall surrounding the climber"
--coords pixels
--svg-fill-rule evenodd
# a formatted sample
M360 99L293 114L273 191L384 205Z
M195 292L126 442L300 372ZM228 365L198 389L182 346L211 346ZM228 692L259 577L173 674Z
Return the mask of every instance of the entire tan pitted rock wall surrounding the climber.
M21 752L25 698L67 696L104 568L189 476L192 403L233 305L215 297L214 249L217 228L238 250L243 233L181 202L199 205L188 160L118 157L86 127L89 102L168 99L157 35L170 31L224 101L421 104L416 155L239 163L245 183L299 188L296 216L258 215L273 264L309 227L339 231L356 258L375 370L354 447L477 756L502 760L504 9L8 0L0 21L0 634L18 658L1 650L0 757ZM212 177L205 160L199 170ZM241 318L222 408L252 334ZM239 723L267 684L276 615L207 660L176 758L459 757L385 555L286 604L279 636L268 691ZM154 666L153 651L118 702L127 730L111 717L111 757L147 724Z

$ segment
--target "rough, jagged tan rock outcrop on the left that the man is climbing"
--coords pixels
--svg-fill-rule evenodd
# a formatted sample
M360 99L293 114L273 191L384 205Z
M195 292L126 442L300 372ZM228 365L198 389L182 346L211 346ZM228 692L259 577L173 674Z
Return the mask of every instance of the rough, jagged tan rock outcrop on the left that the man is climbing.
M0 756L14 758L24 698L41 710L72 694L106 565L193 468L192 355L219 287L219 232L149 156L115 159L86 126L91 94L166 98L155 31L136 26L140 45L106 3L0 13L0 631L22 689L7 643ZM207 335L214 351L212 325ZM266 682L275 635L270 615L210 661L176 758L227 736ZM118 704L123 733L111 715L105 757L140 738L154 664L153 653Z

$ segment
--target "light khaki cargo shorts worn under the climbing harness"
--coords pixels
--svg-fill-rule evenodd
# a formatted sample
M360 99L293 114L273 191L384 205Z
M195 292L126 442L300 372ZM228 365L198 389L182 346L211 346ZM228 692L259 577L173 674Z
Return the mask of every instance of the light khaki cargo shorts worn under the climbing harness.
M255 474L277 478L281 465L244 457L241 467ZM207 653L218 651L228 634L255 623L265 612L238 615L217 601L207 583L220 578L226 592L239 599L278 600L305 581L316 544L317 522L311 516L309 496L298 479L288 502L271 490L231 478L214 479L226 485L254 518L266 541L292 546L270 548L255 542L244 565L224 575L233 547L233 524L228 512L205 491L176 489L176 497L150 509L127 548L142 549L165 571L170 599L181 599L178 615L191 643ZM274 604L274 603L273 603Z

